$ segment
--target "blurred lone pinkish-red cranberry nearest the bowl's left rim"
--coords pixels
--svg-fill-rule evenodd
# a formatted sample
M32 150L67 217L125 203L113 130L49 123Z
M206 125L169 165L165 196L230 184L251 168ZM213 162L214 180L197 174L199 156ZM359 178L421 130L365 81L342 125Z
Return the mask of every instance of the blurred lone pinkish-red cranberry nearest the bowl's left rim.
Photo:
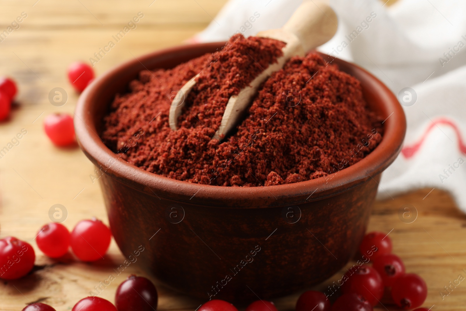
M75 142L73 117L65 113L53 113L44 120L44 129L48 138L57 146L67 146Z

